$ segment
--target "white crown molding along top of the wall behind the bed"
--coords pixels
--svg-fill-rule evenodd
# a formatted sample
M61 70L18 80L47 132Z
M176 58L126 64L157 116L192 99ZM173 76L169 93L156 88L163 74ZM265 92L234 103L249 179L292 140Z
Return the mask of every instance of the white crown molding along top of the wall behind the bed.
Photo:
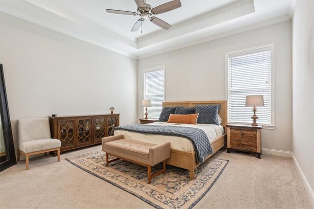
M158 50L156 52L147 53L145 55L138 55L137 59L143 59L143 58L155 56L157 54L162 54L162 53L166 53L166 52L169 52L169 51L177 50L177 49L180 49L180 48L193 46L193 45L197 45L197 44L202 44L202 43L209 42L209 41L212 41L212 40L215 40L215 39L224 38L224 37L227 37L227 36L235 35L237 33L242 33L242 32L249 31L249 30L254 30L254 29L257 29L257 28L260 28L260 27L264 27L264 26L268 26L268 25L276 24L276 23L281 23L281 22L285 22L285 21L288 21L288 20L291 20L291 17L289 17L288 15L284 16L284 17L279 17L279 18L272 19L272 20L269 20L269 21L265 21L265 22L261 22L261 23L257 23L257 24L252 24L252 25L249 25L249 26L246 26L246 27L242 27L242 28L239 28L239 29L235 29L235 30L232 30L232 31L228 31L228 32L225 32L225 33L220 33L220 34L217 34L217 35L213 35L213 36L207 37L205 39L200 39L200 40L197 40L197 41L185 43L183 45L165 48L165 49L162 49L162 50Z

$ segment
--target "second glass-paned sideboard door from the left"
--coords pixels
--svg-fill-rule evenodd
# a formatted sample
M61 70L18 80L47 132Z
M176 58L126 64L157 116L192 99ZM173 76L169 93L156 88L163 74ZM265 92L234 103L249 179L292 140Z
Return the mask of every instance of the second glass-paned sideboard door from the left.
M77 119L77 146L84 146L92 143L92 118Z

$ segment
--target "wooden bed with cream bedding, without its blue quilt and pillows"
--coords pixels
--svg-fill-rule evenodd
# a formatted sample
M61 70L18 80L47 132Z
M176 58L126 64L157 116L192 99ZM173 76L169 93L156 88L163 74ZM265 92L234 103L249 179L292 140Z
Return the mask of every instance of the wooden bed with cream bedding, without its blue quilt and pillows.
M218 115L222 118L220 125L212 124L170 124L185 127L195 127L202 129L210 140L213 149L213 154L225 146L227 142L226 121L227 121L227 101L187 101L187 102L163 102L163 107L195 107L196 105L218 105L221 107L218 110ZM146 125L169 125L165 122L150 123ZM116 130L114 135L123 134L126 139L138 140L143 142L161 143L163 141L171 141L171 157L166 161L169 165L174 165L188 170L190 180L194 179L194 169L200 164L196 162L195 151L192 143L182 137L162 136L153 134L134 133L124 130ZM172 139L169 139L172 138ZM205 160L209 159L208 155Z

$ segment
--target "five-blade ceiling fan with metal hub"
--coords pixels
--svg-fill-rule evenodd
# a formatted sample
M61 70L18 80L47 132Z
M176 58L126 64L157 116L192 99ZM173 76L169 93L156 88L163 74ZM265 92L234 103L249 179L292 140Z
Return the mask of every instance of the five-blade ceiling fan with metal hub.
M152 16L158 15L161 13L169 12L171 10L177 9L181 7L180 0L172 0L170 2L161 4L157 7L152 8L152 6L146 3L146 0L134 0L137 5L137 12L129 12L123 10L115 10L115 9L106 9L108 13L113 14L120 14L120 15L133 15L133 16L140 16L141 18L134 24L131 31L138 31L139 28L142 27L143 22L145 19L149 19L152 23L156 24L157 26L168 30L171 28L171 24L160 20L159 18Z

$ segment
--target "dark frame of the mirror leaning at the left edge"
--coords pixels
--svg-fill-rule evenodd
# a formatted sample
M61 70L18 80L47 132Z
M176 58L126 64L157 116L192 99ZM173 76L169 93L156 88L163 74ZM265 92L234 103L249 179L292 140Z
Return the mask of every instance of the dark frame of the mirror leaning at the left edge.
M4 146L6 152L6 159L0 162L0 171L16 164L14 143L12 136L11 120L9 115L8 102L6 97L5 83L2 64L0 64L0 114L2 123L2 132L4 139Z

